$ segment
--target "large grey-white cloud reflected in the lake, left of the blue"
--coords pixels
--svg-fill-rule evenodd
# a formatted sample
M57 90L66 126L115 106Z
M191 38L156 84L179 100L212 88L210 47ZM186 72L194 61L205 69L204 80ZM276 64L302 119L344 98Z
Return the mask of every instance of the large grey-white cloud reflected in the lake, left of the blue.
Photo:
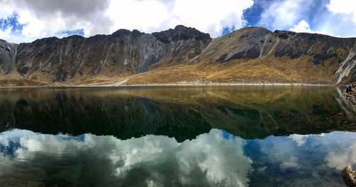
M9 146L18 144L21 146ZM135 172L136 169L136 171L150 173L150 176L142 175L140 178L142 181L150 180L147 183L162 184L164 183L162 181L169 180L182 183L183 186L184 184L194 186L197 183L208 183L211 186L248 186L248 173L251 171L252 163L251 159L244 155L243 139L235 136L225 139L223 133L216 129L201 134L192 141L186 140L182 143L167 136L147 135L119 140L113 136L85 134L78 140L78 137L73 136L53 136L26 130L13 130L0 133L0 146L7 146L15 152L15 158L7 161L6 157L0 154L0 166L2 166L0 178L1 173L16 176L23 172L21 171L23 168L33 168L38 166L36 165L38 163L39 166L43 166L41 164L43 156L48 156L48 158L55 158L56 161L63 159L63 163L66 163L66 159L80 160L73 163L73 166L63 166L63 171L93 166L98 167L95 170L108 172L107 175L96 176L100 180L105 177L110 178L111 181L130 180L130 176L127 175ZM16 161L21 161L23 166L21 169L13 165ZM31 166L26 167L26 164ZM44 180L38 176L41 169L43 168L36 168L36 173L28 173L27 177L31 178L33 174L36 175L36 180ZM16 170L19 172L14 173ZM166 171L172 173L164 173ZM89 172L90 175L95 175ZM70 174L68 180L78 181L78 178L71 173L62 174ZM81 175L78 177L83 179ZM137 182L139 181L135 181Z

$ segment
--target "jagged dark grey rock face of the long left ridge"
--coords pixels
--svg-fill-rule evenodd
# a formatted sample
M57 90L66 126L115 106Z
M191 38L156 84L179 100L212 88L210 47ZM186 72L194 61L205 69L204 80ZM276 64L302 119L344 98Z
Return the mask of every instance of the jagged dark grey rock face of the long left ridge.
M19 44L16 69L30 79L36 74L50 77L47 81L135 74L147 71L161 59L174 64L194 58L209 41L209 34L184 26L155 34L120 29L111 35L89 38L51 37Z

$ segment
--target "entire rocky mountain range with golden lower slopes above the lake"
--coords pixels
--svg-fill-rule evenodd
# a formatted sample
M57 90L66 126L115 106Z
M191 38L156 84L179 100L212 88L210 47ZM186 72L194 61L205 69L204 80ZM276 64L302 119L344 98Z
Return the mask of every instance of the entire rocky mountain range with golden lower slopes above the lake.
M0 39L1 86L356 82L356 38L239 29L211 39L176 26L145 34Z

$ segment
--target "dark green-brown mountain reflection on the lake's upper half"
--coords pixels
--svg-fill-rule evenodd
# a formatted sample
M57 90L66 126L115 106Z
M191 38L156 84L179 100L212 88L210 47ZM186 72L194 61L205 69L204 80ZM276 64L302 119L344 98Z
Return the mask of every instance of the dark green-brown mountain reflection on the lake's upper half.
M0 131L182 142L211 128L243 138L355 131L355 120L340 91L325 86L0 90Z

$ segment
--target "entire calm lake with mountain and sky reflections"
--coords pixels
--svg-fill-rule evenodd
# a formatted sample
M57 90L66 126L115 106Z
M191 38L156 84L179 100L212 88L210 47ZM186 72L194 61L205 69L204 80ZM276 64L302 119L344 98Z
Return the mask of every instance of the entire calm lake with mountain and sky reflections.
M334 86L0 89L0 186L342 186Z

